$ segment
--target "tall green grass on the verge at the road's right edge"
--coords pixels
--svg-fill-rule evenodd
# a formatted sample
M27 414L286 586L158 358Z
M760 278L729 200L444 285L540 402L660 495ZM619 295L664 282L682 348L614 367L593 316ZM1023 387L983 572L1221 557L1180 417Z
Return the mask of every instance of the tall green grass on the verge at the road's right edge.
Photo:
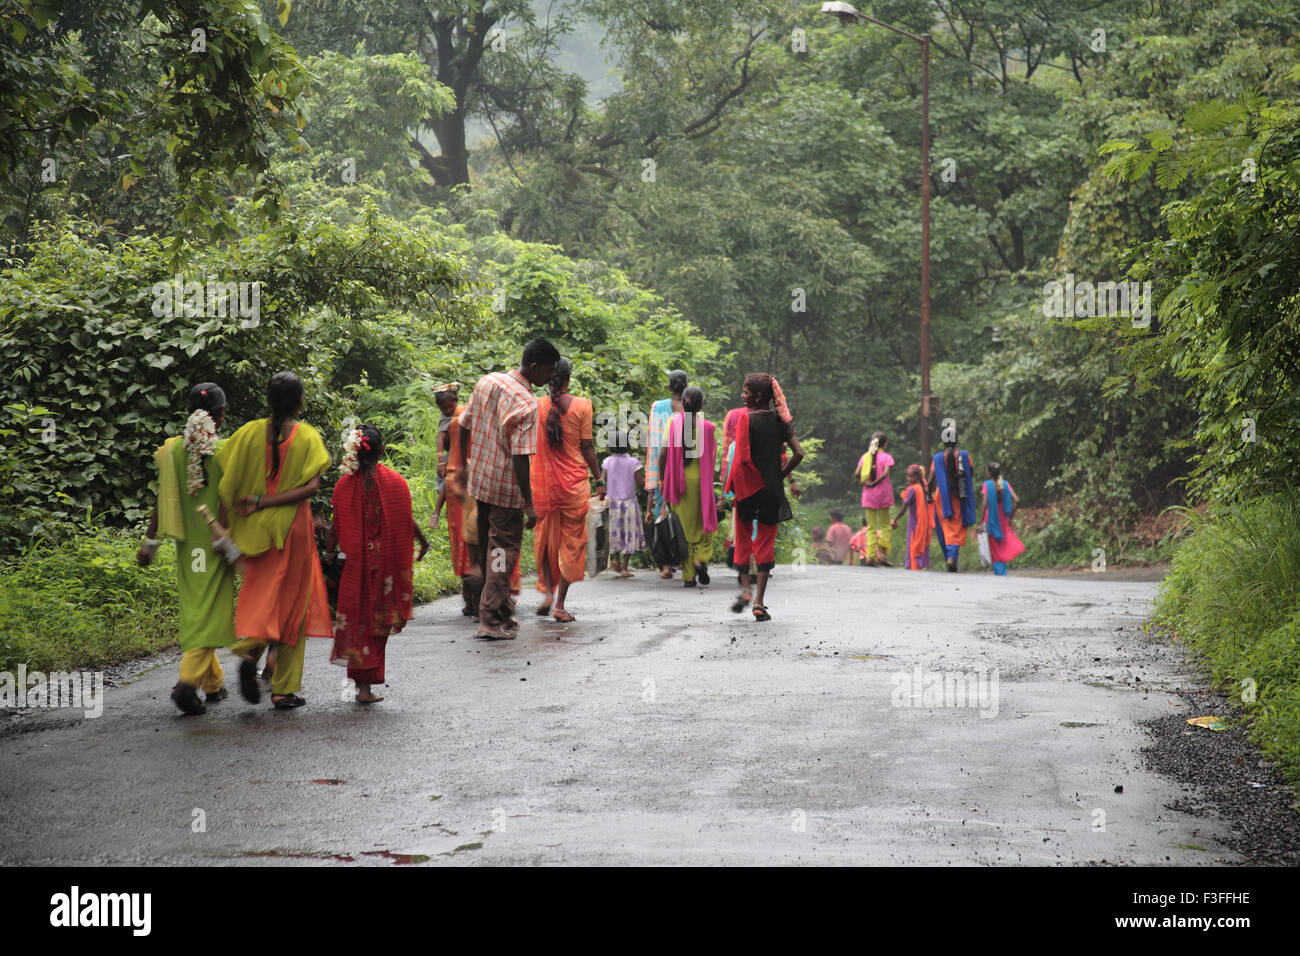
M1300 787L1300 502L1192 515L1154 620L1242 701L1252 740Z

